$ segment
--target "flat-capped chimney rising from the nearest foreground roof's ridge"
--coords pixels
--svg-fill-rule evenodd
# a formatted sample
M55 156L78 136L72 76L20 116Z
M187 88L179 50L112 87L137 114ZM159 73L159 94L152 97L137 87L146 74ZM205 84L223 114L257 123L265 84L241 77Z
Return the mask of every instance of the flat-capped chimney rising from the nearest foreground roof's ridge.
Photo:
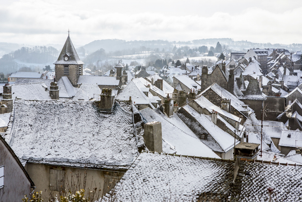
M248 143L248 142L240 142L234 148L234 179L233 184L235 184L235 180L238 174L238 170L240 167L241 159L256 159L260 149L258 149L260 144ZM248 175L247 171L246 174Z

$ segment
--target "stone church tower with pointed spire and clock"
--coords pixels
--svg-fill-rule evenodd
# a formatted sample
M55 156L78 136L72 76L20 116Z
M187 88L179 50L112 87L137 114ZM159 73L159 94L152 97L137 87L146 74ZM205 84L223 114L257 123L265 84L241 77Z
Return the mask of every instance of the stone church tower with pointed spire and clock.
M76 49L73 47L71 39L68 37L62 48L58 60L53 63L56 71L56 81L62 76L67 76L70 83L76 87L80 75L83 75L83 62L80 60Z

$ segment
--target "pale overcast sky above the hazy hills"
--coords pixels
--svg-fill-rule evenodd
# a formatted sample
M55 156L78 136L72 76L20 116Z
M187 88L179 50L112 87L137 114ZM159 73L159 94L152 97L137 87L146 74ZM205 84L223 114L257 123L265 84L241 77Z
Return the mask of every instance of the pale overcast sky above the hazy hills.
M0 0L0 42L233 38L302 43L302 1Z

